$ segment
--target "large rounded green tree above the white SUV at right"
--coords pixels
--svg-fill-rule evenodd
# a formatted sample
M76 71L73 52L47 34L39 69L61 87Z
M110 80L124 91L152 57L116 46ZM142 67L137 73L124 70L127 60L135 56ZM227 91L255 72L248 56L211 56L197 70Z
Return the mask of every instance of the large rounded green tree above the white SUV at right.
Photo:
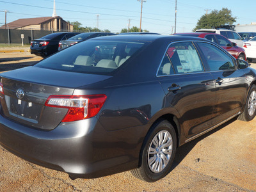
M211 28L220 28L222 25L232 25L236 22L236 17L232 17L231 10L227 8L222 8L222 10L213 10L208 15L202 15L202 17L198 20L195 29L211 29Z

